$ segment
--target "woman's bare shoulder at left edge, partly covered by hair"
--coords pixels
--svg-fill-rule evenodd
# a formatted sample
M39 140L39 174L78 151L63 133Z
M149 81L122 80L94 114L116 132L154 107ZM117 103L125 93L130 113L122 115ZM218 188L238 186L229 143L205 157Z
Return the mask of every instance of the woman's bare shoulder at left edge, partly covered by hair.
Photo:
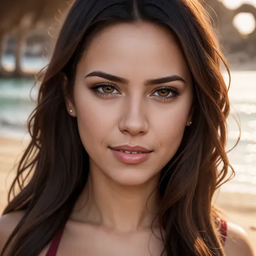
M3 250L5 242L8 240L12 231L24 216L23 211L12 212L4 214L0 217L0 254Z

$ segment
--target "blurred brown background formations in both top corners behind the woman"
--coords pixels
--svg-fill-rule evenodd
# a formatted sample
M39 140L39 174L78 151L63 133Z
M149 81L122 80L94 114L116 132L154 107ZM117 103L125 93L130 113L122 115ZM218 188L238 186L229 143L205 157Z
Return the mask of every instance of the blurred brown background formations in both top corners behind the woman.
M26 35L35 28L47 31L73 1L75 0L0 0L0 59L4 36L10 32L16 35L15 71L5 71L0 62L0 77L24 76L21 59ZM256 20L254 6L243 4L237 10L229 10L218 0L205 0L205 7L212 17L224 53L247 52L248 56L256 57L256 30L245 37L233 26L233 19L239 12L250 12ZM50 52L54 48L55 39L52 38L51 42Z

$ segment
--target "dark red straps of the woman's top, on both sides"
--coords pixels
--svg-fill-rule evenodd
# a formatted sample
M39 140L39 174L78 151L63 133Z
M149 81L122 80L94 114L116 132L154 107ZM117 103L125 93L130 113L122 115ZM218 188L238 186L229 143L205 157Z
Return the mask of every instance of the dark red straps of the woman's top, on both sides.
M220 234L221 238L223 239L223 243L225 244L226 237L227 237L227 222L225 220L220 220ZM56 256L58 247L60 244L60 240L62 238L63 232L64 232L63 227L56 235L56 237L52 240L52 243L50 245L49 251L47 252L46 256Z

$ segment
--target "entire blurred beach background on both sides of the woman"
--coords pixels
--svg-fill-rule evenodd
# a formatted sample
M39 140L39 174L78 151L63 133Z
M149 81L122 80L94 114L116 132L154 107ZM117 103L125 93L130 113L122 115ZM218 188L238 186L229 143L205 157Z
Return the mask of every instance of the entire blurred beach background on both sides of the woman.
M0 211L14 175L10 170L27 143L35 75L49 63L72 1L0 0ZM256 0L205 2L231 69L227 150L239 137L235 118L241 126L240 142L228 154L236 176L214 200L245 228L256 252ZM227 79L224 69L223 74Z

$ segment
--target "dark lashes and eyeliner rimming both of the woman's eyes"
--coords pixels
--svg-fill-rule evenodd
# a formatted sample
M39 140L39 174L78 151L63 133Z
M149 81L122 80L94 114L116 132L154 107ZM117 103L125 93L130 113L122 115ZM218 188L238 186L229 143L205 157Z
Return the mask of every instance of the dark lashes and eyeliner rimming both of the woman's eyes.
M105 86L108 86L108 87L111 87L113 88L114 90L117 90L117 87L112 85L112 84L109 84L109 83L100 83L100 84L97 84L95 86L91 86L89 89L95 93L97 93L97 95L99 95L100 97L108 97L108 96L111 96L113 94L116 94L116 93L105 93L105 92L100 92L98 91L97 89L101 88L101 87L105 87ZM180 95L180 91L178 91L177 89L173 88L173 87L169 87L169 86L161 86L161 87L158 87L156 88L156 90L153 91L153 93L155 92L158 92L158 91L161 91L161 90L165 90L165 91L169 91L171 93L173 93L174 95L173 96L166 96L166 97L161 97L161 96L156 96L157 98L159 98L160 100L170 100L170 99L173 99L173 98L176 98L177 96Z

